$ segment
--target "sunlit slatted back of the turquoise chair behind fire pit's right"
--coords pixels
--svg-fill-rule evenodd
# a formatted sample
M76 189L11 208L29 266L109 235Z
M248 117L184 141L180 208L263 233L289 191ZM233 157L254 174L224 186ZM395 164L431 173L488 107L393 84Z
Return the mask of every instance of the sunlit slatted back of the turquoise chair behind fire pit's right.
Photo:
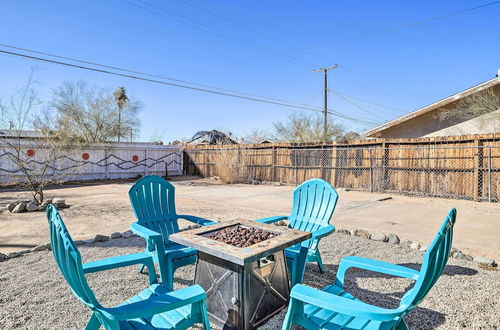
M314 232L330 223L338 194L326 181L311 179L293 192L290 228Z

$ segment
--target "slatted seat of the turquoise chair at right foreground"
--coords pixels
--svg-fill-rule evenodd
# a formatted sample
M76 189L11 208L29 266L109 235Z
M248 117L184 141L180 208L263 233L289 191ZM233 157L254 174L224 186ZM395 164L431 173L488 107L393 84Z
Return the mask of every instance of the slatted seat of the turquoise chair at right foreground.
M322 291L343 298L358 300L350 293L334 284L325 287ZM390 329L387 323L382 324L378 321L339 314L310 304L304 304L304 316L321 329Z

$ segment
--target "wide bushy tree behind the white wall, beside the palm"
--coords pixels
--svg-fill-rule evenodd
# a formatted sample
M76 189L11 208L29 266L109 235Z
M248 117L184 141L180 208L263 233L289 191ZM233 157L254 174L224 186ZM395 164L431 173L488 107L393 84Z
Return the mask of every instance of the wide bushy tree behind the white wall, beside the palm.
M123 136L133 140L140 127L140 108L139 102L125 94L117 96L102 88L89 88L82 81L63 83L54 91L52 100L54 128L83 143L119 141Z

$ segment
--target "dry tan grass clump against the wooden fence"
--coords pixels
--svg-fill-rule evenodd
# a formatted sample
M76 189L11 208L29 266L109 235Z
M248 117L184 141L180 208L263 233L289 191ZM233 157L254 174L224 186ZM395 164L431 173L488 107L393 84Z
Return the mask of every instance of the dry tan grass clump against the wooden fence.
M248 170L244 158L237 148L218 147L213 153L215 172L224 183L243 183L248 181Z

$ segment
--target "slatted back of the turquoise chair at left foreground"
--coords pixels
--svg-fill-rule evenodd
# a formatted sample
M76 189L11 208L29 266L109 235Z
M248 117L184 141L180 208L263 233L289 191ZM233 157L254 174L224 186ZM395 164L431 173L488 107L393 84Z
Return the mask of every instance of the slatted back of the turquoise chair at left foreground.
M92 310L100 308L85 278L82 259L54 205L47 207L52 254L71 291Z

